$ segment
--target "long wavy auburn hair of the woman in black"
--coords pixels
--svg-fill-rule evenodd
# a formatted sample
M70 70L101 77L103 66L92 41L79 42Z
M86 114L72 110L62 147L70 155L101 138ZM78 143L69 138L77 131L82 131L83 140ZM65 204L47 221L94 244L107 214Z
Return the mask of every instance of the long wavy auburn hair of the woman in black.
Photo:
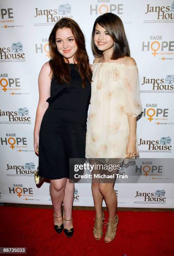
M78 46L78 49L74 56L74 61L76 61L78 65L78 71L82 79L82 87L86 87L86 77L91 83L92 72L89 65L88 54L86 52L85 38L81 31L81 28L78 26L76 21L70 18L61 18L61 20L59 20L53 27L48 39L51 57L49 64L52 72L52 77L54 75L60 84L63 84L64 82L68 84L71 83L71 77L69 75L69 65L66 65L64 57L58 52L57 46L55 44L55 33L59 28L70 28L73 33L74 39ZM68 59L66 60L68 61Z

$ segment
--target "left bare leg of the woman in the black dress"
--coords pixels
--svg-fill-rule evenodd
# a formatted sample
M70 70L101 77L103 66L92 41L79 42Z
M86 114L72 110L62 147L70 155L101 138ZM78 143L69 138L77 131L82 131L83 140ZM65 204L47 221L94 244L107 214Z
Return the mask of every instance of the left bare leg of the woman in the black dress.
M61 206L63 198L65 197L66 178L63 179L51 179L50 180L50 197L53 203L53 210L55 217L62 215ZM54 218L55 225L61 225L61 218Z

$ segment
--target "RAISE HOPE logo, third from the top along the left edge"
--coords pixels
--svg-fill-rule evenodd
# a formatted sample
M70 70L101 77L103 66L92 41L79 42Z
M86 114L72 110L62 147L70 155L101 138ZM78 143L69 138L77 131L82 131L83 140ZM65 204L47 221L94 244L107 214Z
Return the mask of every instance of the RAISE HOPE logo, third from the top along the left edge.
M16 133L6 133L5 137L0 138L0 143L11 150L15 148L28 148L27 138L17 137Z

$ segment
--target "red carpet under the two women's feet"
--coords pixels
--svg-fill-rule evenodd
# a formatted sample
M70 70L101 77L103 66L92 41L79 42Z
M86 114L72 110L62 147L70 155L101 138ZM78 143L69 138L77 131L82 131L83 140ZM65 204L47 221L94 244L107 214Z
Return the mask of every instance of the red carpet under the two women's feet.
M105 212L106 215L106 212ZM53 228L53 210L0 207L0 246L27 247L27 255L174 255L174 212L118 212L116 239L93 237L93 211L74 210L74 235Z

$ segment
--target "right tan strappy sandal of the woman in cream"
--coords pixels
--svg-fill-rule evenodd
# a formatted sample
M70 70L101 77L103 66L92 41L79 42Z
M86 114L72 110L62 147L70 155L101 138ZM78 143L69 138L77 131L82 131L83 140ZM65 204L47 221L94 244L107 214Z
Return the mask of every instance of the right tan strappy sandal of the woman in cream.
M113 220L103 223L103 225L107 226L105 238L108 237L111 239L111 241L113 241L113 239L116 236L116 229L117 229L118 223L119 223L119 216L117 214ZM106 241L105 239L104 239L104 241L105 241L105 243L111 242L111 241Z

